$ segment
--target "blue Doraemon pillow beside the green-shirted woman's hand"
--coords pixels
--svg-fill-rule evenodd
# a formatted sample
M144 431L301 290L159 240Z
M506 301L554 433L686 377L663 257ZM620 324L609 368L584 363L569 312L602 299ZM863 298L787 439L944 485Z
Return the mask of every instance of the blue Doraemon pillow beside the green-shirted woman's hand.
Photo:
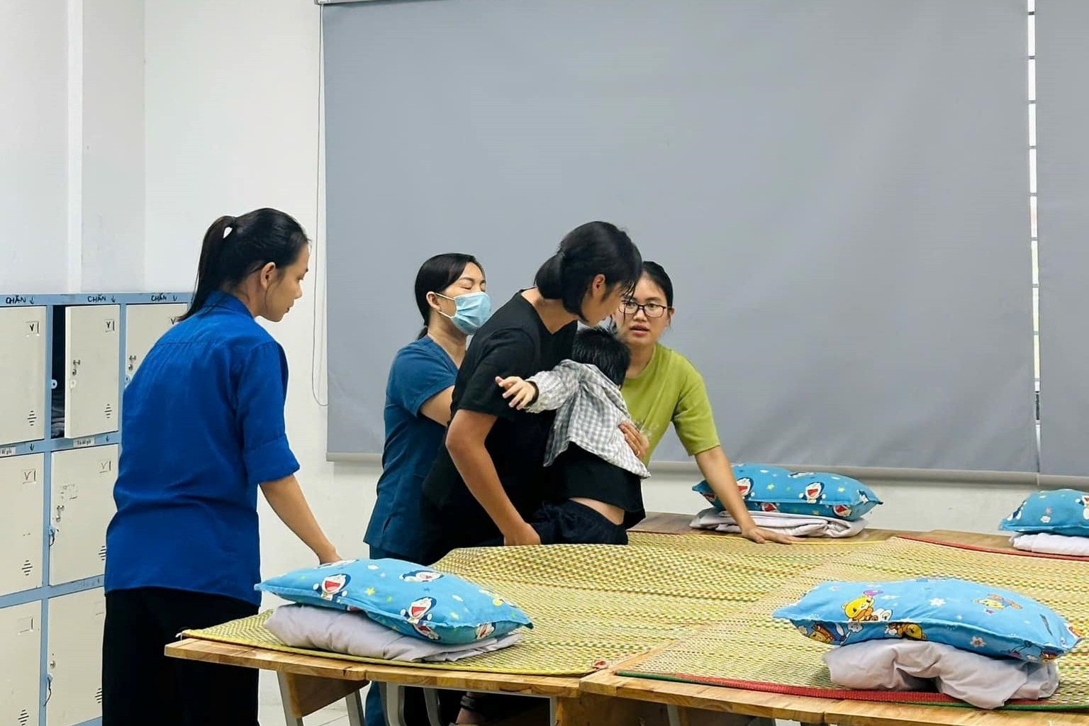
M735 464L734 477L745 506L750 512L782 512L855 521L883 504L869 487L835 473L792 472L778 466ZM701 481L699 492L715 509L725 509L710 484Z

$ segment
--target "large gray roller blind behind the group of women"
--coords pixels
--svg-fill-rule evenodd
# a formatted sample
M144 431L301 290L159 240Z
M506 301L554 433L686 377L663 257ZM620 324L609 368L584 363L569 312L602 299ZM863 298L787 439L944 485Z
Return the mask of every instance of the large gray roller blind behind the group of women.
M426 257L502 303L605 219L734 458L1036 469L1021 0L322 12L331 452L381 448Z

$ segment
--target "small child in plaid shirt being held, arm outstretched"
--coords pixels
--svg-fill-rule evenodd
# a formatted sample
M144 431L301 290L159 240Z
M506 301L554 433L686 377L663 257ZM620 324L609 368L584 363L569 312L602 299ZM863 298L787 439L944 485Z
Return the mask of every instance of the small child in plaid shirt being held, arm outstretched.
M544 456L554 500L529 519L541 544L627 544L627 529L646 516L641 481L650 472L620 429L631 421L620 392L631 355L611 333L589 328L575 336L573 360L528 380L497 379L513 408L556 411Z

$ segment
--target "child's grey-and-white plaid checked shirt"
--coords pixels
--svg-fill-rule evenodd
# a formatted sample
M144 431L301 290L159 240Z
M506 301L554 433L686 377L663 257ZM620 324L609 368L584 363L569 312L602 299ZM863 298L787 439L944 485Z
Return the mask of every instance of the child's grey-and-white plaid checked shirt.
M623 421L632 420L620 386L597 366L563 360L527 380L537 386L537 399L526 410L555 410L544 466L551 466L567 444L575 444L644 479L650 476L620 430Z

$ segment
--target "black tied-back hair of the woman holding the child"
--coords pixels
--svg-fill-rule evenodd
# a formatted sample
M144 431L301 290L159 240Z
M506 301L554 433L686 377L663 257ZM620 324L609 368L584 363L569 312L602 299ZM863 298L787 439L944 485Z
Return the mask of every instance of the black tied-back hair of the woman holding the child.
M586 321L583 299L595 276L603 274L610 287L631 291L641 270L643 257L626 232L609 222L587 222L567 233L559 251L537 271L534 284L542 297L562 300L564 310Z

